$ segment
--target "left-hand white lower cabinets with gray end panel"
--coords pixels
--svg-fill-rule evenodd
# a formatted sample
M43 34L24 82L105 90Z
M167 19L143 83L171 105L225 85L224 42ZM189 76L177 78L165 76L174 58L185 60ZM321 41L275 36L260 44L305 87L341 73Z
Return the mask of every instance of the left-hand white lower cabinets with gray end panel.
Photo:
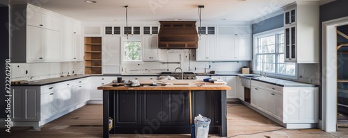
M88 78L80 78L52 85L11 87L14 126L40 129L45 123L82 107L89 100L88 84Z

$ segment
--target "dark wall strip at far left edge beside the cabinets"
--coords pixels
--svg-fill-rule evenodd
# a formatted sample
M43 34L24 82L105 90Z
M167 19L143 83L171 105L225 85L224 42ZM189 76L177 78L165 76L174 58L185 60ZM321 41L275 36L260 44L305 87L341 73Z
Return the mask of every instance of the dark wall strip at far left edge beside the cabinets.
M1 4L0 4L1 5ZM2 5L1 5L2 6ZM6 62L5 60L8 59L9 53L8 53L8 29L6 28L6 24L8 24L8 7L1 7L0 6L0 46L1 46L1 53L0 53L0 80L1 80L1 94L0 94L0 119L6 118L6 101L5 101L5 67Z

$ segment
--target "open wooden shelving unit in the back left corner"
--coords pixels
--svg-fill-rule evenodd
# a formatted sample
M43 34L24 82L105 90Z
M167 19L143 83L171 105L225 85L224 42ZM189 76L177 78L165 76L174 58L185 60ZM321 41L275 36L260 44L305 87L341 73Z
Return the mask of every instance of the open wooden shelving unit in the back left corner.
M102 74L102 37L85 37L85 74Z

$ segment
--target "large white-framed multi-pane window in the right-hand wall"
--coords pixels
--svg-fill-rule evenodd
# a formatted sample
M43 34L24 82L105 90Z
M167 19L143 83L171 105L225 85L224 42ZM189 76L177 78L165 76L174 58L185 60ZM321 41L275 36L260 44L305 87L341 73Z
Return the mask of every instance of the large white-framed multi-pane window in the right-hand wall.
M296 64L284 62L283 28L254 35L256 71L284 76L296 75Z

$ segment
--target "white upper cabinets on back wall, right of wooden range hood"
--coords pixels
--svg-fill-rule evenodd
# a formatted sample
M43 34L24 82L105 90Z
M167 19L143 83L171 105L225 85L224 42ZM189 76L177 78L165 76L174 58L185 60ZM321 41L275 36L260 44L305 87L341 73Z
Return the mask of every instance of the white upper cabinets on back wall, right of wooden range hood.
M201 37L196 50L198 61L251 60L251 26L198 27ZM210 33L207 35L212 35Z

